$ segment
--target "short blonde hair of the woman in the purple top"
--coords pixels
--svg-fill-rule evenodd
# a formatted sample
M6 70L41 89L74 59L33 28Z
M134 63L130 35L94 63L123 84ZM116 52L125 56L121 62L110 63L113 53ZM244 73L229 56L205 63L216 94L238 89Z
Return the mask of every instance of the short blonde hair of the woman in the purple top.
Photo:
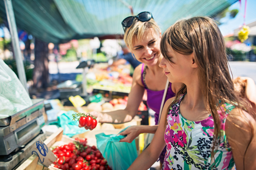
M131 50L134 40L137 39L140 41L147 29L152 28L157 35L161 33L159 26L157 25L156 21L151 18L149 21L141 22L138 18L133 20L132 26L125 29L123 40Z

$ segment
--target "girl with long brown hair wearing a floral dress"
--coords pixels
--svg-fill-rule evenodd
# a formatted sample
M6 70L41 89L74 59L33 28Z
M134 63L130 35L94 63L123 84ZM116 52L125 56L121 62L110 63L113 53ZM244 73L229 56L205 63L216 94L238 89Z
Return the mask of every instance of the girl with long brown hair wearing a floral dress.
M155 136L129 170L149 169L166 146L162 170L237 170L256 167L256 122L234 92L225 43L208 17L181 20L163 34L160 67L182 82L167 100Z

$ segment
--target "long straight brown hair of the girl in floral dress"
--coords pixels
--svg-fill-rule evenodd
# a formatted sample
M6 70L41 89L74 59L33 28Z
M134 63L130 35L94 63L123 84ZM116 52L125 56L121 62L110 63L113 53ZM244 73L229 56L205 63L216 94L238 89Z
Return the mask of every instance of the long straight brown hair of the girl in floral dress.
M193 17L177 21L164 32L161 39L162 55L167 61L170 61L167 52L168 46L183 55L194 54L200 87L204 95L204 106L214 119L211 150L211 160L214 160L215 150L219 146L221 136L220 115L217 112L221 110L219 101L231 103L245 110L254 119L255 113L250 109L250 104L240 99L234 92L234 85L228 70L224 38L214 20L209 17ZM178 101L181 94L186 92L187 87L183 84L169 108ZM219 103L217 107L216 103Z

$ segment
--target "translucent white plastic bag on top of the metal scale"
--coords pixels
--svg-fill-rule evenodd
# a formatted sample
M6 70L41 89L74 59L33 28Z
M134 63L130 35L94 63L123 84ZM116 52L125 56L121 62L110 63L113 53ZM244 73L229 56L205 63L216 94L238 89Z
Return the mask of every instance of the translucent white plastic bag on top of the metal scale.
M16 74L0 59L0 118L9 117L32 105Z

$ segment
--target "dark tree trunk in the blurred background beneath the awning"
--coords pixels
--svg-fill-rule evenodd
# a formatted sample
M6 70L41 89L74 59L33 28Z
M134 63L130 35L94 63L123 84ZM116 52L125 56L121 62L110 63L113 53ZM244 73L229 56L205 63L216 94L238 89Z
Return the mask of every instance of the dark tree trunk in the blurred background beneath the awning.
M47 88L49 79L48 69L48 43L35 38L33 82L35 88Z

